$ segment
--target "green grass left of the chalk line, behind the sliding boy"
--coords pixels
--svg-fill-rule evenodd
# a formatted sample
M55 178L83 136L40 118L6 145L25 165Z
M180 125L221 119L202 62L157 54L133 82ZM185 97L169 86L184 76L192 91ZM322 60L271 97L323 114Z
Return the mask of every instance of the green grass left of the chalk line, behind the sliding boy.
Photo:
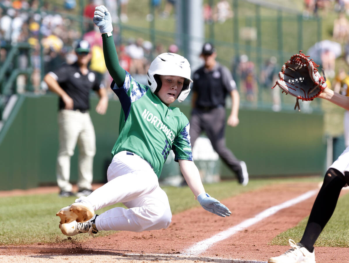
M287 178L287 179L254 179L246 187L241 187L236 181L222 181L205 185L205 190L218 200L251 191L267 184L280 183L292 180L319 180L315 178ZM193 193L188 187L162 187L167 193L173 214L186 209L200 206L194 200ZM66 240L62 235L59 225L59 217L55 216L60 208L73 203L74 197L59 198L57 193L25 195L0 198L0 245L19 245L30 243L60 242ZM122 204L116 204L96 211L96 214ZM98 235L112 234L113 231L105 231ZM77 235L77 240L86 239L87 235Z

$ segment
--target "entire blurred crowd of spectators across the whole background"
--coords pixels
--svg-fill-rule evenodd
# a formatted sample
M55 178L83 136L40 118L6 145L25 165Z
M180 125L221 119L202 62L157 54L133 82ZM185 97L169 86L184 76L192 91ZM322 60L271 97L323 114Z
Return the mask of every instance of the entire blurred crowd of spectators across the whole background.
M181 51L175 42L165 45L163 42L153 43L142 38L120 39L117 23L129 22L130 1L134 0L88 0L81 10L81 23L78 18L72 19L76 13L76 0L64 0L61 6L53 5L51 1L3 0L0 5L0 61L3 63L6 60L11 46L27 42L32 47L31 53L29 55L28 52L20 51L19 68L25 69L30 63L34 71L30 77L34 90L44 93L47 87L42 82L42 77L64 62L75 62L74 45L77 40L84 39L91 46L90 68L97 72L105 86L109 86L111 77L104 63L101 34L92 22L95 7L105 5L116 24L113 36L120 64L138 82L146 84L149 64L158 54ZM151 0L150 3L155 11L146 16L148 21L154 18L151 17L154 14L159 19L166 20L176 13L176 0ZM328 79L337 79L339 82L343 78L343 72L335 70L337 59L343 57L349 65L349 0L304 0L303 16L326 15L330 9L337 12L337 18L333 21L333 39L315 43L304 53L310 55L325 70ZM202 11L205 23L225 23L234 14L231 1L227 0L214 1L213 5L205 2ZM264 61L258 65L255 64L255 59L246 54L240 53L233 58L232 75L239 84L242 99L250 105L258 104L264 89L264 93L268 93L269 98L272 98L272 109L281 109L280 91L270 89L274 86L283 63L277 61L277 58L272 55L263 56ZM109 95L113 96L112 93Z

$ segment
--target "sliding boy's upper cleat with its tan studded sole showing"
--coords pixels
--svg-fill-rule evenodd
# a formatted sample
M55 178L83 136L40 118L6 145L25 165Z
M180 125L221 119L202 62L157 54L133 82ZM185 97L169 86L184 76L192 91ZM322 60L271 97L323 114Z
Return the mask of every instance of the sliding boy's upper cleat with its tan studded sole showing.
M73 203L70 206L64 207L59 210L56 216L61 218L60 224L68 224L70 222L85 222L92 218L95 214L95 211L86 206L86 204L77 202Z

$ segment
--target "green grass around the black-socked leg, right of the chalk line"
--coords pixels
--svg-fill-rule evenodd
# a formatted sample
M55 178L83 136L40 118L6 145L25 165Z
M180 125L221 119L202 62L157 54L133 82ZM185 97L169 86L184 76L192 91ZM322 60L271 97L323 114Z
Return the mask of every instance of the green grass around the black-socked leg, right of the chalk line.
M349 195L346 194L339 199L331 219L315 242L315 246L349 247L348 207ZM270 245L288 245L289 238L299 242L308 218L304 218L297 226L277 235Z

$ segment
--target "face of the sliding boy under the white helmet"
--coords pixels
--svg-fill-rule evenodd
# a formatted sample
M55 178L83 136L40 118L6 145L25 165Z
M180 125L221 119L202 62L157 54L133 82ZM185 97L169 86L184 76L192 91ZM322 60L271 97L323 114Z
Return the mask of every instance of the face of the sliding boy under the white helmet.
M163 76L159 75L162 86L156 94L159 99L169 106L177 99L179 92L183 88L184 78L179 76Z

